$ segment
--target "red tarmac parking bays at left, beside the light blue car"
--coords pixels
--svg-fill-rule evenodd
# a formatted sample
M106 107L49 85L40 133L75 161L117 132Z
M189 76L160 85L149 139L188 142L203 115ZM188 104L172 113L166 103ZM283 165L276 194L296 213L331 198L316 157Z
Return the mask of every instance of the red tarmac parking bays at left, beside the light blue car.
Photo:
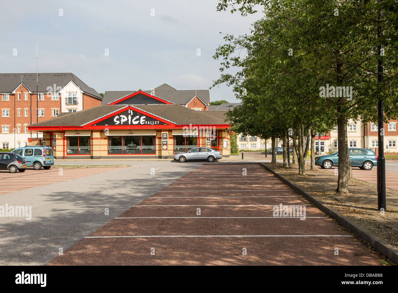
M96 168L59 168L51 167L49 170L26 169L25 172L10 173L6 170L0 171L0 195L27 189L31 187L47 185L95 175L115 170L117 167L96 167Z

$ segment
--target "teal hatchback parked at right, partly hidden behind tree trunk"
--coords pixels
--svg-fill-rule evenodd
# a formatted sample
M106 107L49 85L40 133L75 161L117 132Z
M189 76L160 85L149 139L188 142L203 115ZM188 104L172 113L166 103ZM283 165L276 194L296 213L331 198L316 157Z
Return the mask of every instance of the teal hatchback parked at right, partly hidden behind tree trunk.
M349 161L352 167L359 167L362 170L371 170L377 165L377 155L371 149L349 148ZM323 169L330 169L339 165L339 152L331 155L321 155L315 157L315 165Z

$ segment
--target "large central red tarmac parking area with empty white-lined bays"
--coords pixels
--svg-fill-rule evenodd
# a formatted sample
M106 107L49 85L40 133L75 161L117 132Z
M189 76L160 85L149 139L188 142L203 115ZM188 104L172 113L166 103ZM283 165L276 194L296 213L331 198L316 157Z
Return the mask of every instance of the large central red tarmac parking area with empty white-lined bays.
M280 205L295 206L298 214L283 216ZM49 265L380 265L379 260L261 166L215 164L129 208Z

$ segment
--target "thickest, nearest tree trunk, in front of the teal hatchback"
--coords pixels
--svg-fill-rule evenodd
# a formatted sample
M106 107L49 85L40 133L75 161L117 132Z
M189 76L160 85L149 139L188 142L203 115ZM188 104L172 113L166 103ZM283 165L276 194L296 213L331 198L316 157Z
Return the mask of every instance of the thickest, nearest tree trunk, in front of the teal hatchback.
M338 107L340 108L340 107ZM338 112L340 109L338 109ZM340 114L337 119L337 144L339 151L339 176L336 192L348 192L349 156L347 144L347 116Z

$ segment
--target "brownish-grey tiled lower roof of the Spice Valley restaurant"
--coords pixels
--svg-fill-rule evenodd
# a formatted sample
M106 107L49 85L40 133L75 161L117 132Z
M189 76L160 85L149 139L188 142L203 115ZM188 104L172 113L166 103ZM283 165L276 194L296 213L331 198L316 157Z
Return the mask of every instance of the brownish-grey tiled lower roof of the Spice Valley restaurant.
M83 126L98 118L107 116L117 110L126 108L127 105L101 105L73 113L60 113L56 118L31 124L30 126ZM189 124L227 124L224 119L208 115L208 111L195 111L176 104L131 105L148 114L164 120L169 120L177 125Z

